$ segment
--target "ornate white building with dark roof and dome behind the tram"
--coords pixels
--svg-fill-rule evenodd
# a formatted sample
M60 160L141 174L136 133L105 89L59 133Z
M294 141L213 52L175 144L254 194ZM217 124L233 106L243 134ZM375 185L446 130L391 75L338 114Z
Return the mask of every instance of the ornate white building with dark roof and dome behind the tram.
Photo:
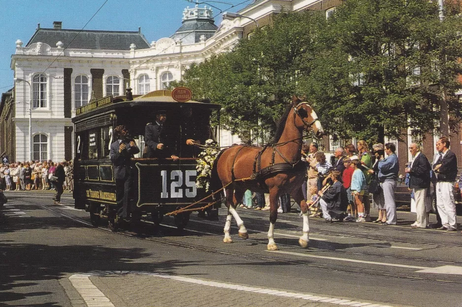
M24 47L21 40L16 41L11 59L16 80L14 160L70 160L74 148L71 118L92 95L124 95L129 86L133 94L162 89L180 80L192 63L229 51L252 29L270 23L272 14L283 8L329 10L332 4L323 7L320 3L332 1L256 0L240 16L224 14L219 28L212 10L196 5L184 10L182 26L171 37L151 43L140 29L80 31L63 29L61 22L54 22L53 28L38 25ZM228 132L222 132L220 140L222 145L240 141Z

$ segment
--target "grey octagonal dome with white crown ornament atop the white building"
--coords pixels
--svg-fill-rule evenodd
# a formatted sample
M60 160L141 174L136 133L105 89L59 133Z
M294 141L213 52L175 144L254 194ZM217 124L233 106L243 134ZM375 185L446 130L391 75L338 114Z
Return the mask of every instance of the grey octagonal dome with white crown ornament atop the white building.
M213 21L212 9L207 6L199 8L198 4L193 8L185 8L182 24L170 38L176 42L181 41L183 45L205 41L218 28Z

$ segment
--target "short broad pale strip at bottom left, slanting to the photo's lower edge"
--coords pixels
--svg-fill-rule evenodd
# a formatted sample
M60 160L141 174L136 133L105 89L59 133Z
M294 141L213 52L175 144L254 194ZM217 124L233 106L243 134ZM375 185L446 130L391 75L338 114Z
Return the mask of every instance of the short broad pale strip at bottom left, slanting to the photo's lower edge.
M111 301L93 284L92 274L74 274L69 281L88 307L115 307Z

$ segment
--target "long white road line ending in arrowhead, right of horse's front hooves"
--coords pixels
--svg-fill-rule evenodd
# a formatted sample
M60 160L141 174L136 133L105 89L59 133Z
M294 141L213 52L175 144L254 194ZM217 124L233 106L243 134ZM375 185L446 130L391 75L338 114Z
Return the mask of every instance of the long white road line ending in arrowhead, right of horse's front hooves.
M297 255L297 256L309 257L309 258L329 259L329 260L338 260L338 261L347 261L347 262L356 262L356 263L366 263L366 264L375 264L375 265L383 265L383 266L390 266L390 267L398 267L398 268L408 268L408 269L418 269L418 270L420 270L420 271L415 271L415 273L434 273L434 274L462 275L462 267L453 266L453 265L444 265L444 266L440 266L440 267L429 268L429 267L421 267L421 266L416 266L416 265L406 265L406 264L377 262L377 261L366 261L366 260L358 260L358 259L350 259L350 258L310 255L310 254L306 254L306 253L299 253L299 252L293 252L293 251L269 251L269 252L289 254L289 255Z

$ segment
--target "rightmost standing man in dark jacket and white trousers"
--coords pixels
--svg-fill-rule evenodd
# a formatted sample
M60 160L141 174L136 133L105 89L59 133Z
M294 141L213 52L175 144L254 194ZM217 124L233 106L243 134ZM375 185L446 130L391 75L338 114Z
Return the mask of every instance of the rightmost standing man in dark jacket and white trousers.
M439 157L433 165L436 173L436 206L441 217L441 230L456 231L456 202L454 200L454 181L457 177L457 157L449 149L448 138L441 137L436 142Z

